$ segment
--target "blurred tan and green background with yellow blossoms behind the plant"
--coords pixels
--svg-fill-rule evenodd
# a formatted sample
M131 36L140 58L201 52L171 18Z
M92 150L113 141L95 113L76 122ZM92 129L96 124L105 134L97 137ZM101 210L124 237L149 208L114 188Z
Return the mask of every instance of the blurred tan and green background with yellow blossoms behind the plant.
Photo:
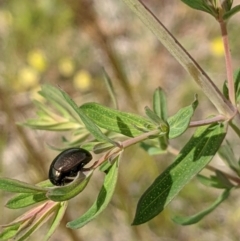
M225 75L223 48L217 22L189 9L180 0L145 0L157 17L221 88ZM234 2L239 4L240 1ZM153 91L161 86L168 97L169 114L191 103L200 105L195 119L216 110L181 66L121 0L0 1L0 172L1 176L37 183L47 178L51 160L58 154L48 144L60 146L62 136L16 125L35 117L33 99L41 84L64 89L80 105L95 101L112 107L102 67L110 75L119 107L143 114L151 106ZM233 65L239 67L239 16L229 23ZM192 130L172 142L180 149ZM174 156L150 157L134 146L122 159L117 190L109 207L80 230L64 228L67 221L90 207L103 175L95 174L88 187L70 201L62 225L51 240L240 240L239 197L234 194L202 222L181 227L175 214L194 214L207 207L219 192L193 180L158 217L131 226L137 201ZM218 158L216 165L224 168ZM1 191L0 223L8 223L23 210L7 210L11 195ZM42 227L30 240L41 240Z

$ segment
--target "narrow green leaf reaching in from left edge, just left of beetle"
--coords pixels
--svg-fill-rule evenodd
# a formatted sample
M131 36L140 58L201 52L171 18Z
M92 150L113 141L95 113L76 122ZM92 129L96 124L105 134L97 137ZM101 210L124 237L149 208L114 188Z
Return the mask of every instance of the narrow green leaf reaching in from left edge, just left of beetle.
M41 188L35 185L28 184L26 182L21 182L10 178L0 178L0 189L8 192L17 193L47 192L45 188Z

